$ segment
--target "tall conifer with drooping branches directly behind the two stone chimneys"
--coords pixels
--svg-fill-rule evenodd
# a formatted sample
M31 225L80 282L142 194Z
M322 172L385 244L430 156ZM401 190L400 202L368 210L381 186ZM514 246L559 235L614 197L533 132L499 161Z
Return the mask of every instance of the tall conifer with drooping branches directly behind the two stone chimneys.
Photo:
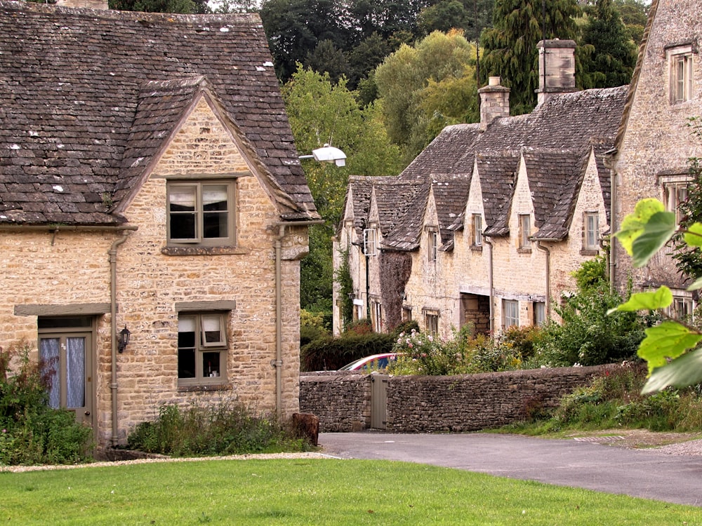
M544 16L545 15L545 16ZM482 68L501 76L511 88L510 112L519 115L536 106L538 49L542 39L576 39L576 0L496 0L492 29L481 36Z

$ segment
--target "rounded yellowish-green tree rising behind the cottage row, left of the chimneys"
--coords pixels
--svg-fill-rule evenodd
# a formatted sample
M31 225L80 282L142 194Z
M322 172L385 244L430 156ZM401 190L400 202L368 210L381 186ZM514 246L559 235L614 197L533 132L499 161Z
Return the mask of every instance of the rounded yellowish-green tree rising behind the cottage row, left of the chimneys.
M475 46L462 32L433 32L376 69L388 137L411 161L446 125L477 119Z

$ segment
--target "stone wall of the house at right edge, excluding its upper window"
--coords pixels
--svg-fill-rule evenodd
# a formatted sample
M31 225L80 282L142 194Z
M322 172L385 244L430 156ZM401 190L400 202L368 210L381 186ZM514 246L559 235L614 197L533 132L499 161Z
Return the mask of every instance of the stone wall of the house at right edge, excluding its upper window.
M689 117L702 115L702 61L698 53L702 19L688 15L698 11L699 2L695 0L658 2L615 159L618 196L615 230L640 199L663 199L662 177L687 173L687 159L702 155L702 145L687 126ZM693 48L693 96L686 102L671 103L666 48L683 43L691 43ZM635 288L661 283L682 287L670 258L658 255L646 268L634 270L621 245L616 243L615 250L618 288L626 287L628 276L633 276Z

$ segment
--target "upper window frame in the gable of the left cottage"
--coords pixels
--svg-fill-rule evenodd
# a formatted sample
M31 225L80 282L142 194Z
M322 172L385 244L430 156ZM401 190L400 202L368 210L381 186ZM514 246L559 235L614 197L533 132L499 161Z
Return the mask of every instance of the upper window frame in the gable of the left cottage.
M227 194L226 210L213 210L209 212L205 210L204 197L207 187L225 187ZM189 189L194 194L194 209L193 210L171 210L173 196L178 192L177 189ZM168 236L168 245L171 246L234 246L237 244L237 184L232 180L198 180L198 181L168 181L166 183L166 230ZM225 225L227 235L221 237L211 237L206 235L206 215L226 213ZM190 215L194 218L194 232L192 237L176 238L173 237L171 223L178 216Z

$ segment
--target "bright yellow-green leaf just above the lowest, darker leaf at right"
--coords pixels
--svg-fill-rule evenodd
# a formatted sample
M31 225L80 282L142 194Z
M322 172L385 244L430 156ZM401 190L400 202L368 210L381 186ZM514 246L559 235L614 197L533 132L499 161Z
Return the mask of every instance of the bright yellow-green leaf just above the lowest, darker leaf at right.
M649 363L649 374L656 367L666 365L668 358L677 358L702 339L701 334L675 321L664 321L644 332L646 337L639 346L638 355Z

